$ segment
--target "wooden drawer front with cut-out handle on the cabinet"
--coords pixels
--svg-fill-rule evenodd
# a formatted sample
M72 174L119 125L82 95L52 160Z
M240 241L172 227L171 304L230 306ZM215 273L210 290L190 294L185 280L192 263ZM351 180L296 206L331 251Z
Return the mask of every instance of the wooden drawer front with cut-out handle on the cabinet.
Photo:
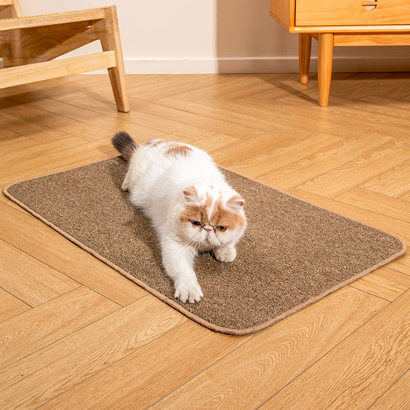
M409 0L296 0L295 25L408 25L409 14Z

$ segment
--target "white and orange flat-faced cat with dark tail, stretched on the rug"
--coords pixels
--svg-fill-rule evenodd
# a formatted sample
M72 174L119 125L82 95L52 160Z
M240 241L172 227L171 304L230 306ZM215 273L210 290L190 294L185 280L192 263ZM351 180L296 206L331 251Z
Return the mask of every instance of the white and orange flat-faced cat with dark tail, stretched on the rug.
M161 139L137 145L124 131L113 136L112 144L128 161L121 188L152 223L175 299L199 302L203 293L195 257L210 252L221 262L235 259L247 223L244 199L209 154L196 147Z

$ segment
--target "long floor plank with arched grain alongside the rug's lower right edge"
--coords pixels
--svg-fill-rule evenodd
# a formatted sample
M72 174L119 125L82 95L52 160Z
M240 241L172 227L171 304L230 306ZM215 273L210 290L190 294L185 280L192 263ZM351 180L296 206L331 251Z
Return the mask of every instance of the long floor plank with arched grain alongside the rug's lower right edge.
M350 335L362 315L370 319L385 305L343 288L261 332L150 408L257 408Z

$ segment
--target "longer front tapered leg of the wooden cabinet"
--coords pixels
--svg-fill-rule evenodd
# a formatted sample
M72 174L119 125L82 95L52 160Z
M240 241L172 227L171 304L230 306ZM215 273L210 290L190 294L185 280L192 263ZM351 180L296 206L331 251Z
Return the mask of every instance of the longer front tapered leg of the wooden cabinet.
M319 34L318 59L319 105L327 107L332 79L333 33Z

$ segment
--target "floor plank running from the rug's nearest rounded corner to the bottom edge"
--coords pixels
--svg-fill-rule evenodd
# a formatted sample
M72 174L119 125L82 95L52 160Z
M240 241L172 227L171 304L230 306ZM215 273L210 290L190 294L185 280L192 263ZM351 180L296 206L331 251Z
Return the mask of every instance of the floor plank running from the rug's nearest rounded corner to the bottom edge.
M185 322L41 408L147 408L252 337L222 335ZM187 339L192 342L181 344Z

